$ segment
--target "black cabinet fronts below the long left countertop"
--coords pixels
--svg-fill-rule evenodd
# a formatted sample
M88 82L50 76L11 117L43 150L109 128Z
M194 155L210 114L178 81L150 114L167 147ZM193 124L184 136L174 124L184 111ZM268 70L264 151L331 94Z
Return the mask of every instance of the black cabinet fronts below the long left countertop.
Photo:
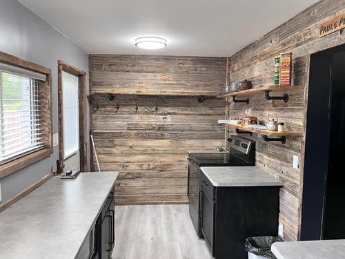
M115 245L115 199L111 191L95 226L81 244L75 259L111 259Z

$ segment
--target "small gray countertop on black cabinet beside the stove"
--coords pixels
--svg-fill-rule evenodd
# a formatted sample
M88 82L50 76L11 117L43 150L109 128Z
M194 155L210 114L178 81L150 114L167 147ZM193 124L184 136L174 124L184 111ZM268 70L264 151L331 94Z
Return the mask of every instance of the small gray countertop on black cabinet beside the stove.
M277 178L256 166L204 166L201 171L213 186L282 186Z

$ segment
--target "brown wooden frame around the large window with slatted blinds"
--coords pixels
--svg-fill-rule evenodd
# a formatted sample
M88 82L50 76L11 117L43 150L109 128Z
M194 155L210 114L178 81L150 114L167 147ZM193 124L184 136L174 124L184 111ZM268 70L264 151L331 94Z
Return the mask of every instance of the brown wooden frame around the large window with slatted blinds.
M39 94L41 101L42 111L46 111L41 114L43 123L43 149L23 155L15 160L2 164L0 166L0 179L23 169L30 164L34 164L39 160L43 160L52 154L52 70L39 64L35 64L30 61L14 57L5 52L0 51L0 63L8 64L11 66L18 66L19 68L25 68L37 73L46 75L46 81L39 81Z

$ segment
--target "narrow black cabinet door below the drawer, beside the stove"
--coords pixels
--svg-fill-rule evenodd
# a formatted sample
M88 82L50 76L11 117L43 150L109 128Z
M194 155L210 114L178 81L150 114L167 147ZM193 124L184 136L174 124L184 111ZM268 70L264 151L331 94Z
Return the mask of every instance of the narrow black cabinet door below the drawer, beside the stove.
M200 191L201 231L210 248L212 256L215 256L215 201L208 195L204 186Z

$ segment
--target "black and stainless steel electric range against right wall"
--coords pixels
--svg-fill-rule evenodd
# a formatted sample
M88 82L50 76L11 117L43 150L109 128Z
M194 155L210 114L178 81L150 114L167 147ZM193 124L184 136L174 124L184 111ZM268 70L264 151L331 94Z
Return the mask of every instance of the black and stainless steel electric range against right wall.
M199 175L201 166L254 166L255 142L238 135L228 138L229 153L190 153L188 160L189 213L197 235L203 238L199 211Z

